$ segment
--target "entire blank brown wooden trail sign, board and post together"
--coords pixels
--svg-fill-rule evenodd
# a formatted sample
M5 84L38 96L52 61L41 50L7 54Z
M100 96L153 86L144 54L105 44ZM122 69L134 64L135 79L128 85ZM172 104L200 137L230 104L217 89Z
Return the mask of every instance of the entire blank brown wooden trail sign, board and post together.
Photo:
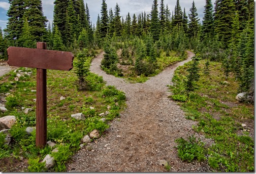
M46 69L70 71L74 55L71 52L45 50L45 42L37 42L37 49L9 47L10 66L37 68L36 146L44 147L47 139Z

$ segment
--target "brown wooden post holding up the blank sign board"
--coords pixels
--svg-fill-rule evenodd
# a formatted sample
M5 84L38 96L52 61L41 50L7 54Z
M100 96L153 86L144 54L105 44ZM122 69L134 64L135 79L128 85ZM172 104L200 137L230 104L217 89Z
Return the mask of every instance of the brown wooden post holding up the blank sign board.
M37 42L37 49L46 50L45 42ZM46 69L37 68L36 146L42 148L47 139Z

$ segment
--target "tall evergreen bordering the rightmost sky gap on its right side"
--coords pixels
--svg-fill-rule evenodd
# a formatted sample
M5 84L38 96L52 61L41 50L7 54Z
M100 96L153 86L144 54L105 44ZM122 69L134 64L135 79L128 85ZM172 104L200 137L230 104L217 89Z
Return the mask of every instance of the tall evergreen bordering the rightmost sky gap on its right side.
M205 0L202 37L209 39L213 36L213 6L211 0Z

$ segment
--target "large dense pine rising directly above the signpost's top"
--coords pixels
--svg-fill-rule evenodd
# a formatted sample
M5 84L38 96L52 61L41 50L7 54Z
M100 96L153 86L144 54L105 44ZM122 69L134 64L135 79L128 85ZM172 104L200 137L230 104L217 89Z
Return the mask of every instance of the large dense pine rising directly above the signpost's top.
M48 21L43 14L41 0L25 1L24 17L30 26L31 35L36 41L48 41L46 22Z

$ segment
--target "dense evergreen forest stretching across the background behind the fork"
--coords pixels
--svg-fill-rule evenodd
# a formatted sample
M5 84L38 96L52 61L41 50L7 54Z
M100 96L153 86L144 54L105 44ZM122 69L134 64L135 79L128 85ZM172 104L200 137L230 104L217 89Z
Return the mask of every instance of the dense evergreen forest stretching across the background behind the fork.
M90 21L89 8L83 0L55 0L53 23L43 15L42 2L9 0L8 23L0 34L0 58L7 59L10 46L35 48L37 41L47 42L50 50L77 54L88 49L104 49L102 68L122 76L117 67L117 51L123 65L133 65L136 75L149 76L161 69L158 57L175 51L185 57L194 50L200 59L222 62L226 78L233 73L239 80L238 92L250 91L254 78L254 2L252 0L205 1L202 22L195 2L188 15L179 0L171 12L164 0L154 0L150 14L128 13L107 8L102 1L96 26Z

